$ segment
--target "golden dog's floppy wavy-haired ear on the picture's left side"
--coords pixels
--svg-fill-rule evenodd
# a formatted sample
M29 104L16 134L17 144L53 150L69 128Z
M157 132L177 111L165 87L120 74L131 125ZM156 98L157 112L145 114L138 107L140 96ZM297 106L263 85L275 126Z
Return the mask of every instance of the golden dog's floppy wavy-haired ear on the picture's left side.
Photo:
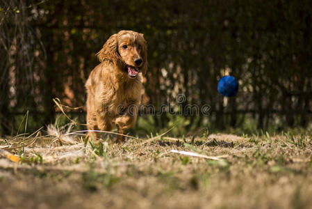
M120 60L120 54L118 53L117 34L114 34L106 40L101 51L97 52L97 58L100 62L104 60L110 60L116 63Z

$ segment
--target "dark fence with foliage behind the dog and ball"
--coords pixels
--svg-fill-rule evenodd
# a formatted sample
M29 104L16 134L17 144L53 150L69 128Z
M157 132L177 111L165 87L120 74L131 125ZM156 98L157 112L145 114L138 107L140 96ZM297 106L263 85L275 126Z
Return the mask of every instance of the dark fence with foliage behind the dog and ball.
M83 106L95 54L121 29L148 42L144 104L176 104L183 94L183 107L208 104L208 119L220 128L241 125L238 115L247 113L259 128L311 121L311 1L13 0L0 7L1 134L17 130L16 114L26 110L33 128L54 121L52 98ZM238 79L235 98L217 93L223 75Z

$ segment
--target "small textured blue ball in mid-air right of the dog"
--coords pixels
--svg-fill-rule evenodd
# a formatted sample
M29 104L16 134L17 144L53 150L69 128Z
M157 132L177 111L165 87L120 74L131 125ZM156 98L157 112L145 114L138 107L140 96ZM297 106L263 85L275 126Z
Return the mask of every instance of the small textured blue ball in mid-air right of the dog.
M217 91L224 96L233 97L238 91L238 82L235 77L227 75L217 83Z

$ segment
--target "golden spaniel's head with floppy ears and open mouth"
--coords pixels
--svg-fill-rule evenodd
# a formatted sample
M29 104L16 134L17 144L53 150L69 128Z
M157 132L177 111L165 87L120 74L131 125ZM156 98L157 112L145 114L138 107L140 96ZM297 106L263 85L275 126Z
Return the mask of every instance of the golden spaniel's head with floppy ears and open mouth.
M147 70L147 44L142 33L120 31L110 36L97 53L99 61L110 60L119 70L135 78Z

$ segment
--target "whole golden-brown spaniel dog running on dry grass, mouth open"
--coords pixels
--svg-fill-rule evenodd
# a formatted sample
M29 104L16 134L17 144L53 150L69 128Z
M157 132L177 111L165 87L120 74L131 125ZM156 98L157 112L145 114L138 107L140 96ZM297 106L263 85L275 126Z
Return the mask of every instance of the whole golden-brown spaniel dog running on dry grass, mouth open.
M109 131L115 124L124 134L136 123L142 74L147 71L147 42L142 33L120 31L108 38L97 56L101 63L85 83L88 130ZM98 137L96 132L88 135ZM124 137L118 135L117 141Z

